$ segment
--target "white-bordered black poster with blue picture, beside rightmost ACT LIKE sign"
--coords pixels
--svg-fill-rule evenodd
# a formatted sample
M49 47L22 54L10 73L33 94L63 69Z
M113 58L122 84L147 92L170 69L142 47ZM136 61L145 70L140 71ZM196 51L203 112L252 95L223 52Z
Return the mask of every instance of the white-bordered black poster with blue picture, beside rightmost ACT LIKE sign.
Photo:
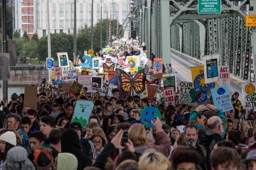
M218 59L219 54L203 56L203 68L205 83L218 81Z

